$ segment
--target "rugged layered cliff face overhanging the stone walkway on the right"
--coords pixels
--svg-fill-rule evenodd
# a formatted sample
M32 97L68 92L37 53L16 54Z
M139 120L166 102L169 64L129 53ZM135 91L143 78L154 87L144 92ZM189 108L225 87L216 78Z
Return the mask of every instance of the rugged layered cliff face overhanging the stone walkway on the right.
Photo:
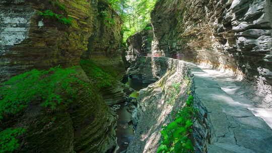
M160 0L151 15L152 53L230 70L271 107L271 7L265 0Z

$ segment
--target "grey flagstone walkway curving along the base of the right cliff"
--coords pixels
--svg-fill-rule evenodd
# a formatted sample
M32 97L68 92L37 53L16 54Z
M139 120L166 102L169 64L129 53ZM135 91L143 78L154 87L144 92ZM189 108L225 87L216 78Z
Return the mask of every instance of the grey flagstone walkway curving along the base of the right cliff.
M272 111L254 107L243 96L246 89L236 85L227 73L203 67L202 70L191 63L187 67L194 75L195 100L208 113L211 128L208 152L271 153Z

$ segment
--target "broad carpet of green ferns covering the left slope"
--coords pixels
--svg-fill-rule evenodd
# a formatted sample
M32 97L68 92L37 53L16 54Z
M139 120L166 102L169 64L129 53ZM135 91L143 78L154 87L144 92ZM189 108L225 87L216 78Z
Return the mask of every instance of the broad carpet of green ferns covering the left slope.
M16 114L32 101L42 102L42 106L54 109L63 101L60 95L67 93L75 97L76 89L72 83L81 83L73 74L76 67L25 72L3 83L0 88L0 120L5 114Z

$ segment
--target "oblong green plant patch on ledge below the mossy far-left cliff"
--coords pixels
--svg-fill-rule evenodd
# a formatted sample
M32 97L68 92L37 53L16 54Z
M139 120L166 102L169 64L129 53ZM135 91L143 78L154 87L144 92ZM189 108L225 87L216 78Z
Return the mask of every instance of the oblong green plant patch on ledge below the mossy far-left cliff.
M98 90L112 87L116 83L116 80L112 75L98 67L93 61L81 60L80 64L88 77L95 80L94 84Z

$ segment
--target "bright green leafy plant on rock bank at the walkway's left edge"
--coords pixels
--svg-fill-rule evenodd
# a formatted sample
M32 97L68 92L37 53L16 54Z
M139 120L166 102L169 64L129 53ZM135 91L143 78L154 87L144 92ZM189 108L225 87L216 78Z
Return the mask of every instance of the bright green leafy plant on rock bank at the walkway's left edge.
M190 153L194 151L190 135L193 132L193 117L196 109L192 105L193 97L189 96L185 107L178 111L175 120L162 127L163 138L157 153Z

